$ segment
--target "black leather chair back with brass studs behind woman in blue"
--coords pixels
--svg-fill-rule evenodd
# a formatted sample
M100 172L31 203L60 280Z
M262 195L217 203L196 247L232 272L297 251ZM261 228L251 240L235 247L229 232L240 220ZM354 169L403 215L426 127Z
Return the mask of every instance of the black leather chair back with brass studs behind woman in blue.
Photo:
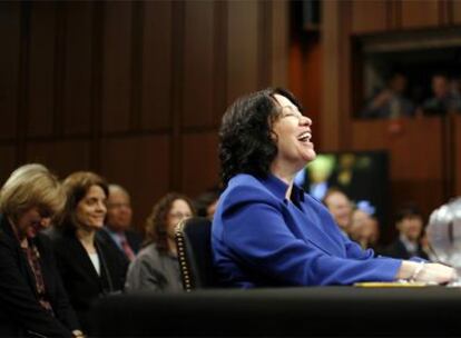
M213 269L212 221L193 217L176 226L176 246L186 291L218 287Z

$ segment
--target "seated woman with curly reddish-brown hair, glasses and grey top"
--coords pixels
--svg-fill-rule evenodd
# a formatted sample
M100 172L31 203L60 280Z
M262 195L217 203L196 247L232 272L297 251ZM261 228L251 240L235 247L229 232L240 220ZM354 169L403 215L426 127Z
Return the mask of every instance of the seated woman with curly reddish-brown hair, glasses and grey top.
M130 264L126 290L182 291L175 227L194 216L192 201L171 192L161 198L146 220L146 246Z

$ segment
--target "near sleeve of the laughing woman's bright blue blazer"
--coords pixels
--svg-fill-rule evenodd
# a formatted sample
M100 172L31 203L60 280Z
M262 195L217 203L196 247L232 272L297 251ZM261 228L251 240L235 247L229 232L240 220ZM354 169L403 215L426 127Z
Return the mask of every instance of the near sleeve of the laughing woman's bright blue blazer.
M235 189L227 196L222 220L222 239L233 255L245 267L285 285L391 281L401 265L395 259L373 259L353 242L347 243L345 257L325 252L315 242L295 236L283 218L279 201L257 188L245 187L244 193Z

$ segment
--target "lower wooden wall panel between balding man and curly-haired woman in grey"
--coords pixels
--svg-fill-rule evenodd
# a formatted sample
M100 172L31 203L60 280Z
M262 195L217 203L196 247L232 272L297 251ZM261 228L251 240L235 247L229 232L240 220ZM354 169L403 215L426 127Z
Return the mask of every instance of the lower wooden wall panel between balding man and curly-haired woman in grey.
M130 192L134 223L141 227L153 205L169 191L168 137L107 139L101 147L101 175Z

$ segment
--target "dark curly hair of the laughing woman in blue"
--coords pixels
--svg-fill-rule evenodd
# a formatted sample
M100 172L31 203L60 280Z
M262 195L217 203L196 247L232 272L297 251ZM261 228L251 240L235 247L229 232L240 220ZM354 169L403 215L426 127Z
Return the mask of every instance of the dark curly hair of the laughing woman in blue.
M267 88L238 98L232 103L219 130L219 159L223 186L237 173L266 177L277 155L272 125L281 115L275 95L286 97L300 111L296 98L282 88Z

